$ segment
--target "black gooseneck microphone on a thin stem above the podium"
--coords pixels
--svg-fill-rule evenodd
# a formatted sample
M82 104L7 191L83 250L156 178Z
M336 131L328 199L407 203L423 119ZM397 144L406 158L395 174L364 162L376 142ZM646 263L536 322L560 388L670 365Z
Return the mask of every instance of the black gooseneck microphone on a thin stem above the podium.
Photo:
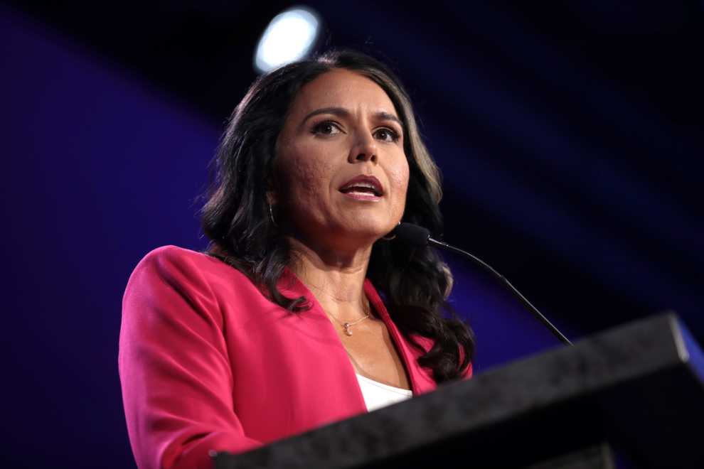
M538 311L535 306L530 304L530 302L526 300L526 297L521 295L518 290L513 288L513 285L509 284L508 280L506 280L503 275L499 274L497 271L492 269L489 264L486 264L486 262L479 259L479 257L469 254L469 252L462 251L462 249L457 249L457 247L450 246L447 243L432 239L432 237L430 237L430 231L426 230L424 227L412 225L411 223L401 223L400 225L398 225L395 230L395 236L396 239L400 240L401 242L404 242L405 244L409 244L412 247L437 247L439 249L444 249L445 251L454 252L455 254L464 256L471 262L474 262L474 264L479 265L482 269L489 272L489 275L494 277L494 279L496 279L499 284L503 285L503 288L508 290L514 298L516 298L518 301L521 301L521 304L523 304L523 306L526 306L526 308L528 308L528 311L530 311L530 313L532 313L535 318L538 318L538 320L543 323L543 325L548 328L548 330L550 330L550 332L553 333L553 335L555 335L555 337L558 338L560 342L565 345L572 345L570 340L567 340L567 338L562 335L558 328L555 328L554 325L550 324L550 321L547 320L545 316L540 314L540 311Z

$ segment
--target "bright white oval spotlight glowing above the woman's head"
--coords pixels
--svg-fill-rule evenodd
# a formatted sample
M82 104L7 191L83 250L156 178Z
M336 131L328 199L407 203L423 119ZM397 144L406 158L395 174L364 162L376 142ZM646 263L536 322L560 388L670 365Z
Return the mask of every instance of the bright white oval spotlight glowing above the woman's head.
M257 45L255 68L266 72L311 51L320 20L311 9L294 6L278 14L267 26Z

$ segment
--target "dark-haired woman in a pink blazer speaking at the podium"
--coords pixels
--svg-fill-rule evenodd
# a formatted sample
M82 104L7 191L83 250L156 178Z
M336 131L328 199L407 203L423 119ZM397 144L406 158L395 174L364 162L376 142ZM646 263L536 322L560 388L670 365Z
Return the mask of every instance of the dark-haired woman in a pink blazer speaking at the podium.
M439 174L399 80L350 51L262 75L203 210L208 255L148 254L119 370L139 468L208 468L471 375L449 270L393 241L441 230Z

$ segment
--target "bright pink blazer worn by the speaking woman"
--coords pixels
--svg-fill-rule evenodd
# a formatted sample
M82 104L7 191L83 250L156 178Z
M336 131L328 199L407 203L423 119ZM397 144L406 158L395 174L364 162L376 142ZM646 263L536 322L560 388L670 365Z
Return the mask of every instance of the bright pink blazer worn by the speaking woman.
M366 412L354 369L314 296L287 271L289 313L240 271L174 246L147 254L122 303L119 374L140 469L210 468L240 453ZM414 395L436 389L377 292L364 285L405 363ZM430 341L421 338L424 347ZM471 372L470 372L471 374Z

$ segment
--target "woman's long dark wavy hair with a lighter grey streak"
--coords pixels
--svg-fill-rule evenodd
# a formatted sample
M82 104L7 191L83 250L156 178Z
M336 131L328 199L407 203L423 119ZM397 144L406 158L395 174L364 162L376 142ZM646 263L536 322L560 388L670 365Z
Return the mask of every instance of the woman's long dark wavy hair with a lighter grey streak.
M423 144L400 80L380 61L353 50L333 50L317 58L289 63L260 76L235 108L213 160L213 181L203 208L208 254L245 273L262 293L297 313L310 308L308 298L287 298L279 285L292 252L282 223L274 224L267 200L267 178L274 174L277 139L297 92L334 68L351 70L376 82L390 97L404 129L410 178L402 220L442 232L440 175ZM278 225L278 226L277 226ZM415 249L398 241L375 242L367 271L401 333L430 338L432 348L418 359L436 382L466 372L474 355L474 335L447 303L452 276L432 249Z

